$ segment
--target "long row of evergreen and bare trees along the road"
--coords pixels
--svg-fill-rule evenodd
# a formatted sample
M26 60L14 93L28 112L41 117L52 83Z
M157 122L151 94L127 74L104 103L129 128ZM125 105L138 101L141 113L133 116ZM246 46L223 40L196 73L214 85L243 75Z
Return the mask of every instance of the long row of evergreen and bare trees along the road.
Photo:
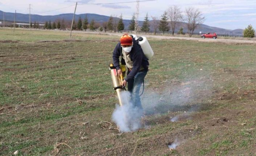
M187 30L190 36L194 33L194 30L197 28L199 24L202 24L205 20L205 17L203 17L202 13L195 8L187 8L185 12L183 13L184 16L182 16L182 11L179 7L176 5L169 7L161 16L160 20L157 17L152 16L152 21L149 22L149 16L148 13L146 14L146 17L144 18L143 25L140 28L140 31L143 31L145 33L148 33L150 31L150 27L153 28L154 34L156 34L157 30L162 31L163 34L168 31L172 31L172 34L174 35L174 31L176 29L178 22L185 22L187 26ZM135 29L135 14L133 14L130 24L128 26L129 31L134 31ZM71 27L71 22L65 22L64 19L62 21L56 21L51 23L45 22L45 29L66 29L66 27ZM103 22L102 24L95 22L94 19L91 20L91 22L88 22L87 16L82 21L81 17L79 17L78 22L73 22L73 30L86 30L90 29L92 31L110 31L110 32L116 32L116 31L122 31L124 30L124 23L122 14L119 18L117 16L110 16L109 20L107 22ZM183 28L181 28L178 32L178 34L184 34Z

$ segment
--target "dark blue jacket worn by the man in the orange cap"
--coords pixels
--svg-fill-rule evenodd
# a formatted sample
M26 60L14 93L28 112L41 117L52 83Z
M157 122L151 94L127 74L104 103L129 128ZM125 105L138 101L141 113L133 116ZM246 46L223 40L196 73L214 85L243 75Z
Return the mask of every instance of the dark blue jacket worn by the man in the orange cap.
M116 69L120 69L119 57L122 55L121 43L117 43L115 50L113 51L113 64ZM148 58L144 55L141 46L135 39L133 39L133 47L130 52L131 60L133 61L132 71L125 78L126 81L129 81L134 78L137 72L140 70L140 67L144 67L144 70L148 70L149 62ZM121 58L122 64L125 64L123 57Z

